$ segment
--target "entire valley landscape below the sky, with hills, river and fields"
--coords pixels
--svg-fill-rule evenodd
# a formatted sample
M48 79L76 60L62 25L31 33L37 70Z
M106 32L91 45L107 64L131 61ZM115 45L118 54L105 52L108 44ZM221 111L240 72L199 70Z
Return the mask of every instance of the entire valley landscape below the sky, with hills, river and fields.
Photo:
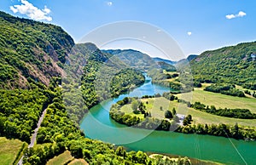
M4 12L0 25L0 164L256 162L255 42L171 61Z

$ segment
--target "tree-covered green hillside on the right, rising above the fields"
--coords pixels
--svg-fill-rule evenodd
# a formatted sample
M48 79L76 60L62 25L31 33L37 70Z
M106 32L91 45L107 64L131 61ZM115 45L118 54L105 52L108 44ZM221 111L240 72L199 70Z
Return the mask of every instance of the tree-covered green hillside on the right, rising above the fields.
M256 42L207 51L190 62L195 81L256 89Z

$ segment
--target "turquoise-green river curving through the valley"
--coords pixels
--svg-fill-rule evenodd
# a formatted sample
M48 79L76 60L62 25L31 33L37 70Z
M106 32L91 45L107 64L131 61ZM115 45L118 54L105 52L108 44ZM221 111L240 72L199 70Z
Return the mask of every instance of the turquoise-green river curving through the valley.
M118 100L125 97L162 94L166 91L169 89L152 84L150 77L146 77L145 83L130 94L119 95L118 98L103 101L92 107L84 116L80 128L90 139L123 145L134 151L168 153L225 164L256 164L255 141L131 128L114 122L109 117L111 105Z

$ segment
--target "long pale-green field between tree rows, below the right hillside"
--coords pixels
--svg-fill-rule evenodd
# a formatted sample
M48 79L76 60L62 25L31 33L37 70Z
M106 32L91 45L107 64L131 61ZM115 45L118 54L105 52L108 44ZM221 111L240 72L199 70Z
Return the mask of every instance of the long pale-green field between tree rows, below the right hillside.
M192 101L191 97L192 96ZM195 88L192 93L177 94L178 98L183 100L200 101L205 105L214 105L216 108L246 108L253 113L256 113L256 99L253 98L240 98L225 94L217 94L207 92L201 88Z

